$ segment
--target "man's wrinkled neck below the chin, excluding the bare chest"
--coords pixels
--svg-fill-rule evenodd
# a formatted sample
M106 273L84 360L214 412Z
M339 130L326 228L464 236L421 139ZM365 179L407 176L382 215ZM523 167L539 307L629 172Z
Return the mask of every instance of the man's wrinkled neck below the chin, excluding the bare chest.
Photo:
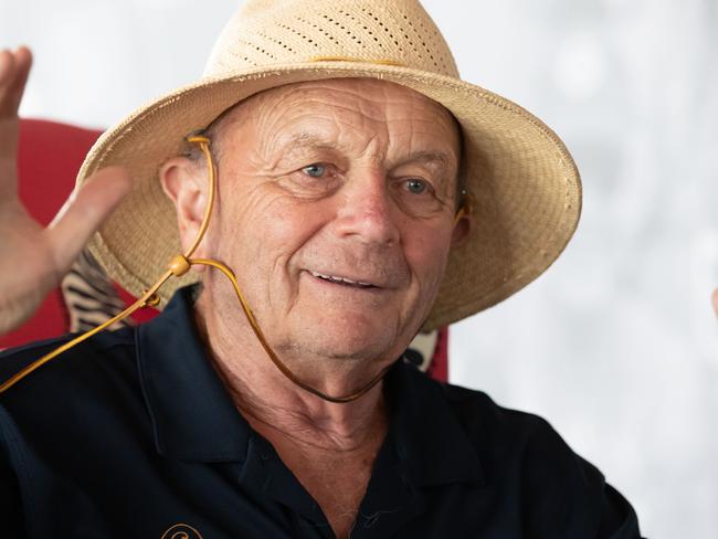
M196 303L198 326L235 405L256 431L270 440L286 437L307 450L339 452L374 445L378 434L383 438L383 382L348 403L325 401L279 372L245 319L219 316L220 309L211 303L204 294ZM332 395L356 391L387 364L279 355L300 380Z

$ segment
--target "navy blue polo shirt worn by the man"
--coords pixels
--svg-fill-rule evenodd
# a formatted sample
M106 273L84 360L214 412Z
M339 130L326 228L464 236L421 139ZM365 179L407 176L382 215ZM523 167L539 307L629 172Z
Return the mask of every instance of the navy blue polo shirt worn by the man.
M0 380L66 338L0 356ZM636 538L629 503L543 420L399 361L389 432L351 537ZM331 538L237 412L190 293L0 395L2 537Z

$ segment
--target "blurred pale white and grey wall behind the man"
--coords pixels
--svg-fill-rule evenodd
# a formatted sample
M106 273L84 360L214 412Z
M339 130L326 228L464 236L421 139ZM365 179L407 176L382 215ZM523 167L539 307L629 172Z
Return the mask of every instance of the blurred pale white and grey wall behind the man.
M539 413L652 538L718 533L718 2L426 0L464 78L572 150L584 213L538 282L452 330L451 377ZM109 126L194 80L234 2L1 0L22 113Z

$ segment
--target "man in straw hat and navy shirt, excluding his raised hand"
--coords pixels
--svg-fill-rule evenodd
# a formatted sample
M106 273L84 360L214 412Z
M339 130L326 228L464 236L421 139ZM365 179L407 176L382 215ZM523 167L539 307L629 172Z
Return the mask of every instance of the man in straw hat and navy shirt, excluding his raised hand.
M559 255L556 135L460 81L412 0L250 1L207 75L81 171L129 170L92 250L163 313L2 358L6 535L638 537L546 422L401 359Z

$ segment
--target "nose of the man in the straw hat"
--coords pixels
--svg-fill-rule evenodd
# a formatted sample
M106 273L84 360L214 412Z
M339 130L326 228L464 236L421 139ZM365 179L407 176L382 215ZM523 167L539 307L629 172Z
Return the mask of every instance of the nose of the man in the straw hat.
M350 180L340 194L336 224L341 236L374 245L399 243L401 215L391 200L383 173L365 171L361 178Z

